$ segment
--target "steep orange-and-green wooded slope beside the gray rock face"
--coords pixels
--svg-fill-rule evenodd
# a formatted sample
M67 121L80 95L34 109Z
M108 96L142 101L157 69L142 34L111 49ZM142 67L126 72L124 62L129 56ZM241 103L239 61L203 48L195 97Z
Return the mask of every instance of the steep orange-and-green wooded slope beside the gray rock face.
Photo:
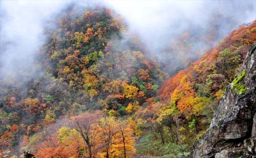
M249 48L255 43L256 21L253 21L234 30L201 60L164 82L158 96L148 99L144 108L134 115L143 135L137 145L138 152L174 153L170 157L189 152L194 140L209 127L226 86L236 78ZM148 150L155 146L156 150Z

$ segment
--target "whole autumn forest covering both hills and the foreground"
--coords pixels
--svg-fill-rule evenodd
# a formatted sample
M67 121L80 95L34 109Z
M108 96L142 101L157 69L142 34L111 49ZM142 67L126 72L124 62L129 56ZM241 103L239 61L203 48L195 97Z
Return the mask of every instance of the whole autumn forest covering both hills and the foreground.
M50 23L57 27L45 28L38 75L12 84L0 77L0 157L23 151L35 157L189 155L226 86L246 92L236 76L256 43L256 21L201 58L181 57L196 40L184 32L170 42L175 50L165 50L181 65L169 71L171 64L150 56L111 9L72 5ZM218 35L198 36L210 43Z

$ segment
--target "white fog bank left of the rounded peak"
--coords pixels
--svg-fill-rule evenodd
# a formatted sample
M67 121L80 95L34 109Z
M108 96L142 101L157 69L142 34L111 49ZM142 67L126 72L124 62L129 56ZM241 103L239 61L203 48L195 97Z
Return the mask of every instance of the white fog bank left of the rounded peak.
M0 2L0 80L38 75L34 57L46 38L44 23L68 4L61 1Z

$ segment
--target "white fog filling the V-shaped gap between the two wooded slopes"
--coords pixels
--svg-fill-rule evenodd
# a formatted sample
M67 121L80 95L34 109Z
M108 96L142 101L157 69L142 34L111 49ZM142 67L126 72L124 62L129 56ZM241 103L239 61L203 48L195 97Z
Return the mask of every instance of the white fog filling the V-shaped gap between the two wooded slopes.
M240 25L256 19L256 1L107 1L171 75L199 59ZM178 43L189 33L187 50ZM212 38L211 40L206 37ZM184 42L185 43L185 42Z

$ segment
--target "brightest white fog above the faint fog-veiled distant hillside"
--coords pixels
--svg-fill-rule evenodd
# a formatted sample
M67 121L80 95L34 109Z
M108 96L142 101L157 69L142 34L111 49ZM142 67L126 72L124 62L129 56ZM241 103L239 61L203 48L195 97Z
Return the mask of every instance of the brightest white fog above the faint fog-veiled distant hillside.
M256 1L106 1L123 15L129 29L154 46L165 46L191 25L209 27L214 13L231 17L236 21L231 29L256 18ZM221 21L223 22L223 21ZM224 21L225 22L225 21ZM190 25L189 25L190 24ZM230 25L229 23L226 23ZM232 30L220 28L228 34ZM200 31L200 30L199 30ZM225 32L226 31L226 32ZM160 44L162 43L162 44Z

